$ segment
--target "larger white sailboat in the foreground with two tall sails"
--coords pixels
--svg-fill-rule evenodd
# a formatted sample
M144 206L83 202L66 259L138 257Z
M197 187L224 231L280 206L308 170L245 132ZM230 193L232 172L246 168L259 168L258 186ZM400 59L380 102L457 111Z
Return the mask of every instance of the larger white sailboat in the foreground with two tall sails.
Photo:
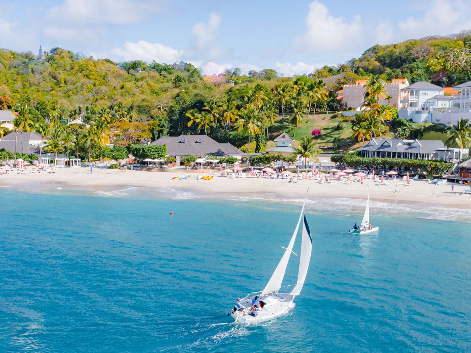
M306 198L307 197L308 195L306 193ZM265 288L260 292L249 293L243 299L238 299L237 305L234 306L232 312L227 314L231 315L235 322L251 323L268 321L286 313L294 306L294 297L298 296L301 292L304 281L306 280L306 274L308 273L309 261L311 259L312 238L309 231L308 221L304 214L305 205L306 199L304 199L299 221L296 225L291 241L287 248L282 247L286 250ZM303 221L303 223L298 281L296 284L284 287L285 292L280 293L279 290L281 289L281 284L283 282L286 267L288 266L290 255L291 253L295 254L292 249L296 236L298 235L301 221ZM288 291L290 287L294 288L291 291ZM255 305L252 304L252 301L255 302Z

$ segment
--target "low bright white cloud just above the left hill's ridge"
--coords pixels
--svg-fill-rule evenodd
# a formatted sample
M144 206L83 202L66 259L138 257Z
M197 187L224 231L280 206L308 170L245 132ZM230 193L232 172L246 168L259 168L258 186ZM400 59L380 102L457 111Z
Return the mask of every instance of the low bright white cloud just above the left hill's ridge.
M114 48L114 55L125 61L129 60L155 60L157 63L174 63L181 60L183 50L167 47L161 43L149 43L139 40L137 43L126 42L123 48Z

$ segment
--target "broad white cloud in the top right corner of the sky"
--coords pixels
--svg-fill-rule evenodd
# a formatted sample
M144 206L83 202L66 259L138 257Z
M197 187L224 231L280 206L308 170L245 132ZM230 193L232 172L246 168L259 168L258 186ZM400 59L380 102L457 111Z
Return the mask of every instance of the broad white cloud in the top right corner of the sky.
M404 40L457 33L471 28L470 18L469 3L435 0L428 5L422 17L410 16L398 23L399 37Z

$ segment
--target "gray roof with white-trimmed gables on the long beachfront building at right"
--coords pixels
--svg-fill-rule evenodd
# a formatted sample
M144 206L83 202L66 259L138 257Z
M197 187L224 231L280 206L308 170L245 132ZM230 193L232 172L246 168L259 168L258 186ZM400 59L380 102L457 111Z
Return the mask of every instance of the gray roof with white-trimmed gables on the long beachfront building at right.
M372 143L371 149L368 144L358 148L360 151L378 151L378 152L410 152L410 153L433 153L439 147L445 147L440 140L415 140L413 144L418 142L420 146L410 145L400 138L374 139L377 144Z

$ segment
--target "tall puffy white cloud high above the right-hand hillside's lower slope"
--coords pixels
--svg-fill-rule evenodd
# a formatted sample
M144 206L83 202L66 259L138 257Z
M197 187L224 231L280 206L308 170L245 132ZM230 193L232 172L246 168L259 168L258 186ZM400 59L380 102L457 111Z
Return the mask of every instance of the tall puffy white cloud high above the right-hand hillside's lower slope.
M351 22L343 17L329 15L329 9L319 1L309 4L306 18L307 32L294 40L295 48L311 52L323 51L345 53L346 49L356 48L363 41L363 25L359 15Z

